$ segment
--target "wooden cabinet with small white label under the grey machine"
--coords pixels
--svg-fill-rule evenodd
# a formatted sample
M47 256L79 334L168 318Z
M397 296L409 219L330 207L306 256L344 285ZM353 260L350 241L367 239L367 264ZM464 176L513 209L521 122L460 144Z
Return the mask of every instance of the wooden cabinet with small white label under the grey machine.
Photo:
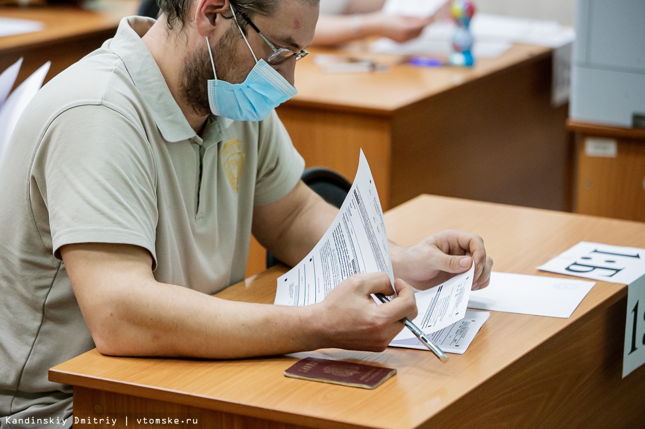
M645 129L568 120L575 134L577 213L645 221ZM592 141L593 140L593 141ZM610 151L587 148L608 145Z

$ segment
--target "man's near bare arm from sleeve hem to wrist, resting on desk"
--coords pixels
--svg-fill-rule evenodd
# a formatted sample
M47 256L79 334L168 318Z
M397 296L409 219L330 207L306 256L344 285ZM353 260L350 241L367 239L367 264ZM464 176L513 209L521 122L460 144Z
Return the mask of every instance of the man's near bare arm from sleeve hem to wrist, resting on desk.
M247 357L313 350L325 338L318 307L227 301L159 283L141 247L79 243L61 254L104 354Z

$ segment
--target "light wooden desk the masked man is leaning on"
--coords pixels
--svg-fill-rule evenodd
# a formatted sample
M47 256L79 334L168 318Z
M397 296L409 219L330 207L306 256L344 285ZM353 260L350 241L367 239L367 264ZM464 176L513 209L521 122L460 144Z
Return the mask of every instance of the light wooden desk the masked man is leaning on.
M386 214L402 245L446 228L476 231L504 272L535 267L581 241L645 246L645 224L453 198L420 196ZM218 294L273 302L274 268ZM74 415L199 419L202 427L448 428L637 427L645 422L645 367L621 379L627 288L597 282L569 319L491 312L464 355L319 350L230 361L101 356L50 370L74 385ZM375 390L283 376L299 357L352 359L398 369ZM129 427L129 426L128 426ZM185 426L195 427L195 426Z

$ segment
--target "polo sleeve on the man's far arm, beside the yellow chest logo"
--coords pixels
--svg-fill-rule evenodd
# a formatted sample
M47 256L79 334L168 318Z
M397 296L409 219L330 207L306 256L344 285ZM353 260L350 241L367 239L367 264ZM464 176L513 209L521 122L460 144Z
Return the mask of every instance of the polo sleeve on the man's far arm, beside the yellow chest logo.
M275 110L259 123L255 205L267 205L287 195L304 171L304 159Z

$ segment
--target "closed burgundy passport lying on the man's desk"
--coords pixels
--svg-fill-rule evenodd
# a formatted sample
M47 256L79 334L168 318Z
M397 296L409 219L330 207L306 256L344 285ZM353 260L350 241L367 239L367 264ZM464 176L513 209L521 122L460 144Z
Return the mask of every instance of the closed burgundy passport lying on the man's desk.
M307 357L284 371L284 376L373 389L396 373L394 368Z

